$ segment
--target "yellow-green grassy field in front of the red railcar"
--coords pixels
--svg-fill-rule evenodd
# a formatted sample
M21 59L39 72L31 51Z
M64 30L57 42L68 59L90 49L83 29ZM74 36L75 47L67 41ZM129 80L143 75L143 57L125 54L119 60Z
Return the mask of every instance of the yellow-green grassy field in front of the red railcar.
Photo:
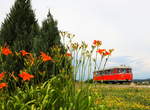
M104 110L150 110L150 88L92 84L95 104Z

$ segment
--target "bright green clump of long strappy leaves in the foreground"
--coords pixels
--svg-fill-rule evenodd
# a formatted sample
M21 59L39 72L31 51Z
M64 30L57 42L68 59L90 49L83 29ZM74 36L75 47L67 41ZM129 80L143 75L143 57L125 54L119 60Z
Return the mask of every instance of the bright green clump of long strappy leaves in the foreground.
M36 87L17 89L16 95L2 96L1 110L94 110L87 87L75 89L67 76L58 75Z

